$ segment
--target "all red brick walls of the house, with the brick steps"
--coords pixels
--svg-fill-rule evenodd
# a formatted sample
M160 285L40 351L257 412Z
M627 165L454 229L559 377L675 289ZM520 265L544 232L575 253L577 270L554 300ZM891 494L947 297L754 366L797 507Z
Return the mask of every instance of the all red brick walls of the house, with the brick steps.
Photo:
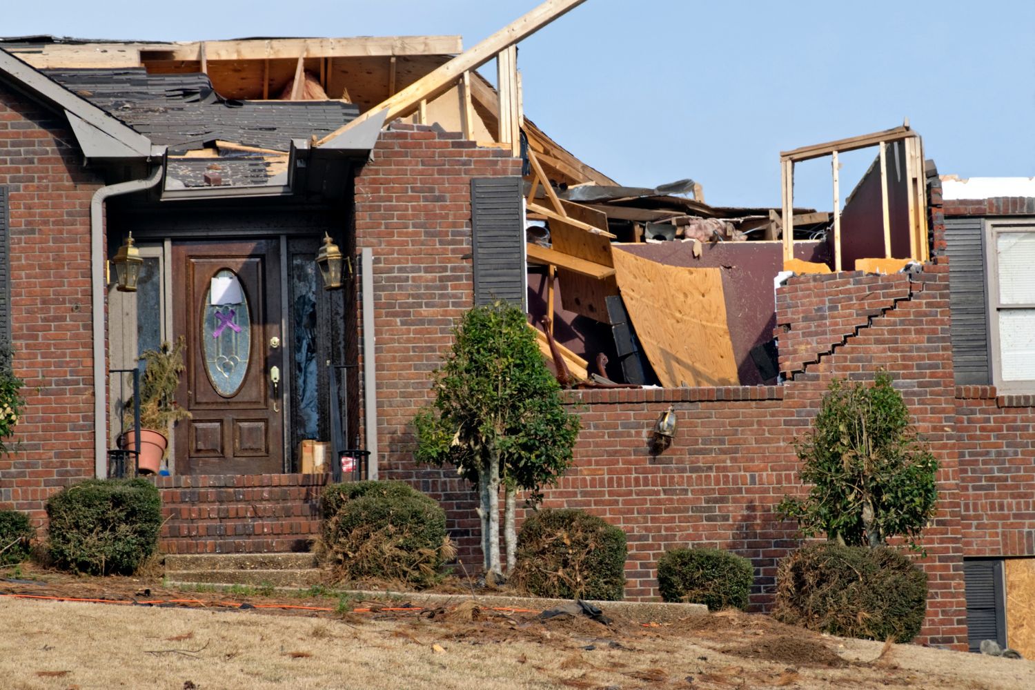
M72 141L59 119L0 93L16 371L27 397L20 450L0 458L0 508L37 516L47 496L93 474L89 202L100 182L80 167ZM349 248L374 249L381 474L443 504L471 569L480 562L474 492L450 470L413 462L410 421L431 399L428 374L473 302L470 181L520 175L521 161L412 125L386 131L375 158L354 181ZM582 507L625 530L627 597L656 596L655 564L664 549L707 544L752 560L751 601L764 610L777 561L798 543L794 526L773 513L785 493L800 490L792 442L833 378L870 380L882 368L941 462L939 514L924 538L931 594L923 639L956 648L966 641L965 556L1035 556L1035 398L953 384L948 265L939 256L943 208L937 177L933 182L937 258L922 273L801 276L777 292L785 385L566 393L584 430L575 467L546 492L546 505ZM1000 212L1031 212L1027 201L996 203ZM963 204L945 211L978 210ZM994 212L988 203L982 208ZM648 434L669 404L679 417L677 437L652 455ZM323 481L159 478L174 518L162 546L304 547Z

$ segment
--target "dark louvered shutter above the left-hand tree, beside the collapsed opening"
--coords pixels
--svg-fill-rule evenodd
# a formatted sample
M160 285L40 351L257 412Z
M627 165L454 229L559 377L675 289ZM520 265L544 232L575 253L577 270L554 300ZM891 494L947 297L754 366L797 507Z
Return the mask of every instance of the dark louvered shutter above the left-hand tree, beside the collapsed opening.
M525 228L520 177L471 180L474 303L525 303Z

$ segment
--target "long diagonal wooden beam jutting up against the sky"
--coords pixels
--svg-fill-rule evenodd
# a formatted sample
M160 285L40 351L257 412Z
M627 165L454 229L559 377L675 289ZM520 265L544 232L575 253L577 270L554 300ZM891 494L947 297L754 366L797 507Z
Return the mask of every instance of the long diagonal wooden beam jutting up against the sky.
M386 111L385 121L389 122L415 110L421 100L433 100L456 85L466 71L477 69L494 59L501 51L514 46L532 35L551 22L571 11L586 0L546 0L524 17L503 27L489 38L425 74L387 100L369 109L347 125L338 127L319 142L321 146L350 127L359 126L375 113Z

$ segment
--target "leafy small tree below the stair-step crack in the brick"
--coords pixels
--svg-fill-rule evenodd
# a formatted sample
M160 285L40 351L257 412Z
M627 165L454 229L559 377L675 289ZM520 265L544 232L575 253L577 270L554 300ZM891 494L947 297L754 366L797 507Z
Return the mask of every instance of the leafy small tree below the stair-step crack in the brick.
M904 537L920 550L935 515L938 461L887 373L873 386L834 381L796 450L801 481L812 487L803 500L785 497L777 512L797 520L804 536L870 547Z

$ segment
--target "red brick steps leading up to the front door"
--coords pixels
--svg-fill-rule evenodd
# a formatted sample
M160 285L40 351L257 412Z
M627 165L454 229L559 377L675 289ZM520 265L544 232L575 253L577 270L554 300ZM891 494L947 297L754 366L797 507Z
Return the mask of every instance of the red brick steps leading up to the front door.
M156 477L165 553L307 551L326 475Z

